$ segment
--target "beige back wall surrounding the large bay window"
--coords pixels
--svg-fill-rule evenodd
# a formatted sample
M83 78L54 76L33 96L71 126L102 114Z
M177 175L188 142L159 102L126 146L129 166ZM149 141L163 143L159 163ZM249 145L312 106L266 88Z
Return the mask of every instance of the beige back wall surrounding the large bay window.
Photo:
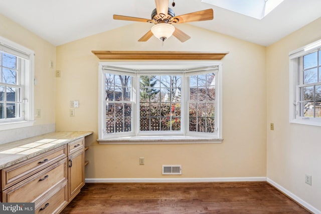
M87 178L195 178L266 176L266 48L191 25L181 43L139 43L149 25L135 23L57 47L56 129L92 130ZM223 59L222 144L101 145L98 137L98 59L92 50L208 51ZM69 101L79 100L75 117ZM145 157L145 165L138 158ZM182 164L183 175L162 176L162 164Z

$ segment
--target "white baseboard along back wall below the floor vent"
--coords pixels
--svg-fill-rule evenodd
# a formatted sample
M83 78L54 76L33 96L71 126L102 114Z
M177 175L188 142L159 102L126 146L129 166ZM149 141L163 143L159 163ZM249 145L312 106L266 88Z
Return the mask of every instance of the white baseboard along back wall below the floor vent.
M86 178L86 183L182 183L266 181L266 177L209 177L209 178Z

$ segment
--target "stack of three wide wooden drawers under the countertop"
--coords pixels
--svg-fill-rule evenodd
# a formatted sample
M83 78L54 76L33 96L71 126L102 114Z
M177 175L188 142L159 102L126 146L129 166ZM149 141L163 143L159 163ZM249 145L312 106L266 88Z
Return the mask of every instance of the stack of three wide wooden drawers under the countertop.
M67 145L63 145L3 168L1 201L34 202L36 213L40 209L41 213L61 211L68 203L67 151Z

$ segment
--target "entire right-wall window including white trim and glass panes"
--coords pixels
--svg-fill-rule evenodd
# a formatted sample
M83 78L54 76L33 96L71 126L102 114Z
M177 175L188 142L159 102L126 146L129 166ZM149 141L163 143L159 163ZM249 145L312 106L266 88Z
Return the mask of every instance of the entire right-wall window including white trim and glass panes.
M309 59L312 56L314 59ZM306 61L304 61L306 58ZM321 126L321 40L289 53L289 122ZM306 72L306 73L305 73ZM310 73L308 73L310 72ZM311 80L312 78L312 80ZM307 89L310 92L306 92ZM316 113L316 109L318 112Z

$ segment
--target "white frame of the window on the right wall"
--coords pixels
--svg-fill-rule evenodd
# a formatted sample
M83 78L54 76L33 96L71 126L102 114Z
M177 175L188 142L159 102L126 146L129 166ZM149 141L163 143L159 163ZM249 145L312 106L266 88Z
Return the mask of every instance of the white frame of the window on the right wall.
M289 53L289 122L321 126L321 118L311 118L300 116L300 76L303 68L301 58L307 54L313 53L321 48L321 40L308 44L304 47L291 51Z

